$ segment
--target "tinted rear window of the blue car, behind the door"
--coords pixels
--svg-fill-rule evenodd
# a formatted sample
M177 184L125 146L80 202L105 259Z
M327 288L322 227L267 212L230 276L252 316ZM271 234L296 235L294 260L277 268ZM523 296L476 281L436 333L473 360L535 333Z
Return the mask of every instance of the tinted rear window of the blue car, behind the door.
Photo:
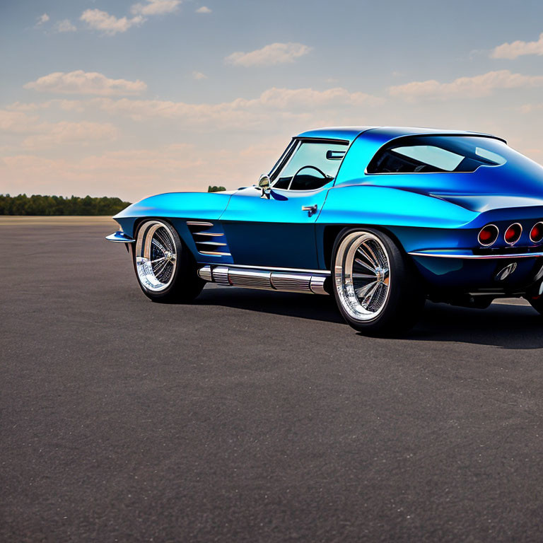
M380 148L368 173L474 172L506 163L503 143L480 136L410 136Z

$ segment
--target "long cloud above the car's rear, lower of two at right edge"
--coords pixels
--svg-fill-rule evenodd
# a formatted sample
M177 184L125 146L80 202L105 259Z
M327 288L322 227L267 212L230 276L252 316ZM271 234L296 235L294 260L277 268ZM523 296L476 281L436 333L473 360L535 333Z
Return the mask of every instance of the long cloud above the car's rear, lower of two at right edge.
M498 89L533 88L543 86L543 76L524 76L509 70L489 71L474 77L460 77L451 83L435 79L413 81L388 89L391 96L415 101L424 99L448 100L449 98L481 98Z

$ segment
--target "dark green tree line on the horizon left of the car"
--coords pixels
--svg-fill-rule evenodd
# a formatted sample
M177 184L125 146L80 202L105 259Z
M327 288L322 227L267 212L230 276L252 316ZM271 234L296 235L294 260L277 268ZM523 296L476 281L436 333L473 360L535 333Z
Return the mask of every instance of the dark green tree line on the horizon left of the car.
M115 215L129 206L120 198L0 194L0 215Z

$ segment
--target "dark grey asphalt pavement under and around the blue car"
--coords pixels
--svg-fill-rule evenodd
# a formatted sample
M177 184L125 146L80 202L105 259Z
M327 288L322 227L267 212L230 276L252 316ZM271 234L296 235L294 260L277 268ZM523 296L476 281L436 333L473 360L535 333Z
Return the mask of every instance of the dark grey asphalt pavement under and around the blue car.
M0 223L2 542L541 542L543 320L143 296L112 223Z

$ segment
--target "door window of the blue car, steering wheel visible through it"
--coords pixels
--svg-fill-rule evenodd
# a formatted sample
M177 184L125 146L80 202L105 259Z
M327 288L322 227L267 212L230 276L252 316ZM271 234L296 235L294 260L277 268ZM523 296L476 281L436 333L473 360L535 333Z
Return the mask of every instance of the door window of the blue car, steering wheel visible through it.
M337 141L298 141L271 174L276 189L319 189L336 177L347 144Z

